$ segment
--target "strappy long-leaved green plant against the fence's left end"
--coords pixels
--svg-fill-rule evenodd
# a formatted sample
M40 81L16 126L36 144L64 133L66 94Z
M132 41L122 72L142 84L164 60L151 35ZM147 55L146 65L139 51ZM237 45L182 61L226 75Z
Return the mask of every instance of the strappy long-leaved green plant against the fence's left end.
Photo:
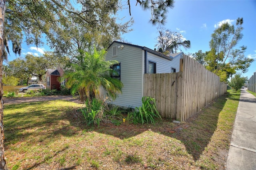
M142 97L142 106L135 107L133 122L141 123L155 123L155 119L162 120L159 112L156 109L156 100L147 96Z

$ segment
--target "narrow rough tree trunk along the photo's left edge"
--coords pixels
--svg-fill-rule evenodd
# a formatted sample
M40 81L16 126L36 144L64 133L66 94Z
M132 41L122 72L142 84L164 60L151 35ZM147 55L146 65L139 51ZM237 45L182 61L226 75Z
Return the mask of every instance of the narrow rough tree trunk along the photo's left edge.
M4 51L4 12L6 0L0 0L0 170L7 170L6 160L4 156L4 101L3 101L3 83L2 83L2 66Z

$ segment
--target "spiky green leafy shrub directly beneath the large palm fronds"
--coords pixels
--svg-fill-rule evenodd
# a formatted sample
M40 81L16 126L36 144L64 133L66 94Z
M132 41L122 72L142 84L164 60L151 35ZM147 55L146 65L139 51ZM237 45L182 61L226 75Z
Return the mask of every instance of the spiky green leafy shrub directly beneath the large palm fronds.
M92 102L87 99L82 113L88 126L96 124L100 126L100 121L102 121L104 116L104 102L96 98L93 98Z

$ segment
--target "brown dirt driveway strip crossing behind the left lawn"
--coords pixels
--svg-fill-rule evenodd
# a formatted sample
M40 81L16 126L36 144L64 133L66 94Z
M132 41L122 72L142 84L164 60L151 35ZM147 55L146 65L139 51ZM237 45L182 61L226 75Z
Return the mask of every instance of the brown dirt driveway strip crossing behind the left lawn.
M19 97L19 98L4 98L4 104L19 104L27 102L42 102L50 100L67 100L82 104L79 100L79 96L40 96L40 97Z

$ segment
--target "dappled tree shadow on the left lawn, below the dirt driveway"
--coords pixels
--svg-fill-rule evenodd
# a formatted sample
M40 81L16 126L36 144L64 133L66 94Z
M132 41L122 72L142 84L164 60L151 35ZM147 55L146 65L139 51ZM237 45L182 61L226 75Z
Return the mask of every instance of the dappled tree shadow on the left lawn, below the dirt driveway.
M77 132L76 129L70 128L69 124L58 123L65 119L69 122L76 121L72 116L72 107L64 106L60 109L53 109L52 106L47 107L47 103L49 102L5 106L5 109L17 110L14 114L4 114L5 146L7 149L10 143L24 141L30 136L48 139L57 135L69 137Z

